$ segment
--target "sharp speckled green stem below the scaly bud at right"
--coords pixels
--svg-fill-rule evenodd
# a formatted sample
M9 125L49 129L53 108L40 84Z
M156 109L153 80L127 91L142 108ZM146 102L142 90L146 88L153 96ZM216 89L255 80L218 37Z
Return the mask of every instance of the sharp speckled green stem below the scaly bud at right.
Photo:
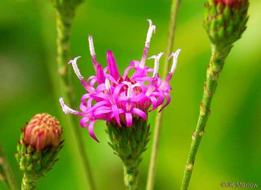
M225 48L222 48L225 49ZM187 164L184 171L183 181L181 190L187 190L189 181L191 178L196 154L199 148L200 141L205 132L205 127L207 125L207 121L210 115L210 106L213 95L216 91L217 80L222 71L225 59L231 49L229 47L226 49L224 53L220 53L221 48L217 48L217 46L212 45L212 56L210 59L210 63L207 69L207 81L204 83L204 94L203 100L200 106L200 114L198 119L198 124L196 130L192 136L191 147L188 155Z

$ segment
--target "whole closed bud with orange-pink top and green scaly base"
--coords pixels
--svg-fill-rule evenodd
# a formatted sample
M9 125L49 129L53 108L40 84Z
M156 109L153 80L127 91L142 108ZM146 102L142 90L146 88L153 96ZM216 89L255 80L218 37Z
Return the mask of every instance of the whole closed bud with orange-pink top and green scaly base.
M48 114L36 114L21 129L15 157L23 173L22 190L34 190L44 173L52 169L63 147L60 123Z

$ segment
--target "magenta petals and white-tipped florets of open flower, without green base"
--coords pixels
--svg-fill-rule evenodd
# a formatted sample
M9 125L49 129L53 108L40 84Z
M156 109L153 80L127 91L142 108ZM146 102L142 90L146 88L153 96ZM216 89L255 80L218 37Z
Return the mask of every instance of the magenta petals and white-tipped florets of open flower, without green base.
M145 66L150 39L152 33L155 32L155 26L152 25L151 20L148 21L149 29L141 61L131 61L123 76L119 73L111 50L107 52L108 67L103 69L102 65L97 63L92 36L89 36L89 47L96 76L91 76L85 81L77 67L76 61L79 57L69 62L72 63L73 69L87 93L82 96L80 105L82 112L72 110L64 104L63 98L60 98L62 109L66 114L71 113L83 117L80 121L81 126L88 127L90 135L97 141L93 132L96 120L105 120L113 126L131 127L133 120L141 118L145 121L147 112L162 105L165 97L166 104L163 108L170 102L171 87L168 82L176 68L180 50L169 57L169 59L173 57L173 65L164 81L158 75L159 60L164 53L149 58L154 59L154 68ZM131 69L134 70L134 74L130 76L128 74ZM149 76L150 73L152 73L152 77ZM95 88L96 84L98 86ZM152 108L149 110L151 105Z

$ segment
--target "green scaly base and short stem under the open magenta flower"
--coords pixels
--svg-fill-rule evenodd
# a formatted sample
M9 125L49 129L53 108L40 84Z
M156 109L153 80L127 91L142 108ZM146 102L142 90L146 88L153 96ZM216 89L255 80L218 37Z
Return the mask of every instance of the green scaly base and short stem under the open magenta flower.
M138 189L138 166L141 162L141 154L146 150L149 141L149 125L142 118L133 120L132 127L108 123L107 133L114 149L124 163L124 179L128 190Z

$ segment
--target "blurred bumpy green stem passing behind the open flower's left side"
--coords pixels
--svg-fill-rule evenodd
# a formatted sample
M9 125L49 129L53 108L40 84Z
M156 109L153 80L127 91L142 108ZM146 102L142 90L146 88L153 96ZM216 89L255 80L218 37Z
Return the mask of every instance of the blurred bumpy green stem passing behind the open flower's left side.
M56 11L56 25L57 25L57 64L58 64L58 73L61 85L62 96L65 101L68 102L72 107L76 107L74 93L72 91L72 87L70 84L70 72L67 63L70 58L70 36L71 36L71 23L73 13L61 15L59 11ZM83 162L84 169L86 172L86 176L88 177L88 181L90 183L91 189L96 190L96 186L94 183L94 177L92 175L91 167L88 161L88 156L86 153L86 149L84 146L84 141L82 137L82 133L80 128L77 127L78 121L75 117L69 116L72 130L74 135L76 136L77 144L80 149L81 161Z

